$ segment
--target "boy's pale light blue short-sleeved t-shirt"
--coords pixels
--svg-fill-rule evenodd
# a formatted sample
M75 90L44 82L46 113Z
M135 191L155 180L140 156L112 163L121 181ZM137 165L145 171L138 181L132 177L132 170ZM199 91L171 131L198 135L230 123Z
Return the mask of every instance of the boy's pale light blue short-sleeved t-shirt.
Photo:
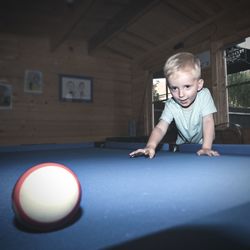
M160 117L170 124L175 121L178 129L176 144L200 143L202 144L202 118L217 112L213 98L207 88L200 90L193 104L183 108L173 98L166 101L165 108Z

